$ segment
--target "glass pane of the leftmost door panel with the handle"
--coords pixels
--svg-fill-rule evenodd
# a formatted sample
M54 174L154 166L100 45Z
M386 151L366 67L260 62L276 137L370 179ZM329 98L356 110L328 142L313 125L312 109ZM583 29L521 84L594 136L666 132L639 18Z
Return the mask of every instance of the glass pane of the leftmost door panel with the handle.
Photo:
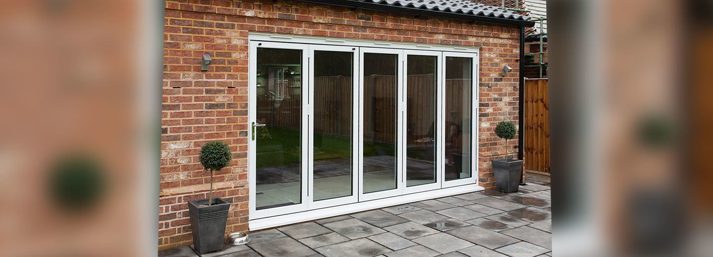
M256 209L301 199L302 51L257 48Z

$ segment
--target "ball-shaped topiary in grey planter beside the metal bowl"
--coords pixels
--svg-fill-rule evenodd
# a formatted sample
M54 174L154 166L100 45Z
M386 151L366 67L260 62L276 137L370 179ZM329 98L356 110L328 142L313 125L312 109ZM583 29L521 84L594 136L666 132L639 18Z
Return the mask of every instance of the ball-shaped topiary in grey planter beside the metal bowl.
M200 164L210 172L210 193L208 199L188 201L193 248L198 254L222 250L230 203L212 197L213 172L227 167L231 157L230 147L224 142L208 142L200 149Z

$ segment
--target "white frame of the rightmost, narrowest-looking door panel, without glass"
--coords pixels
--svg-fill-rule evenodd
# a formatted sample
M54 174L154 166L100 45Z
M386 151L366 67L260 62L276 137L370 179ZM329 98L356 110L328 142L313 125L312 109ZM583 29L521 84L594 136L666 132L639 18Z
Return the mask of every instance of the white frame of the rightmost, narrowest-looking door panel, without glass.
M471 78L472 84L472 90L471 90L471 136L473 137L471 139L471 177L469 178L464 178L464 179L453 179L451 181L446 181L446 176L445 173L443 174L442 182L443 182L443 188L447 187L456 187L456 186L461 186L464 184L475 184L478 183L478 154L480 152L478 151L478 138L480 137L480 115L478 112L478 106L479 106L479 99L478 99L478 90L479 90L479 80L480 80L480 75L478 75L478 63L480 63L480 60L478 58L478 53L480 51L478 50L476 53L454 53L454 52L443 52L443 58L441 58L441 62L443 63L441 65L443 76L441 77L442 80L442 85L441 90L443 92L441 93L441 103L443 105L441 106L441 127L446 127L446 58L448 57L466 57L466 58L472 58L473 59L473 64L471 65L471 68L473 69L472 71L472 76ZM443 138L443 143L441 143L441 146L445 147L445 138ZM446 150L443 148L443 151L441 151L441 154L443 154L442 158L445 159L445 154ZM441 162L441 169L443 169L443 172L446 171L446 163Z

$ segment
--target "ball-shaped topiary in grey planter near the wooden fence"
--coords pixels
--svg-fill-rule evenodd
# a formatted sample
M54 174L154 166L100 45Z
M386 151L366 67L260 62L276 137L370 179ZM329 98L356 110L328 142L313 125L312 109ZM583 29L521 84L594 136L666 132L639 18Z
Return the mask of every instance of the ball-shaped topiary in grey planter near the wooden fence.
M518 192L520 177L523 174L523 161L508 158L508 140L515 138L518 129L513 122L498 122L495 133L505 140L505 159L493 160L493 173L495 173L496 188L500 192Z

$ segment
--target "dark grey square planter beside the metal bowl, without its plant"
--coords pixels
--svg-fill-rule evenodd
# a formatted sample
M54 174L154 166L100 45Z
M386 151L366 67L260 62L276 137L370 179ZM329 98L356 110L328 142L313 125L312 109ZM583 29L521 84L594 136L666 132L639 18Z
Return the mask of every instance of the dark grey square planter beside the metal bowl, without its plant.
M230 203L220 198L188 201L190 211L190 229L193 233L193 246L198 254L220 251L225 237L225 224Z

